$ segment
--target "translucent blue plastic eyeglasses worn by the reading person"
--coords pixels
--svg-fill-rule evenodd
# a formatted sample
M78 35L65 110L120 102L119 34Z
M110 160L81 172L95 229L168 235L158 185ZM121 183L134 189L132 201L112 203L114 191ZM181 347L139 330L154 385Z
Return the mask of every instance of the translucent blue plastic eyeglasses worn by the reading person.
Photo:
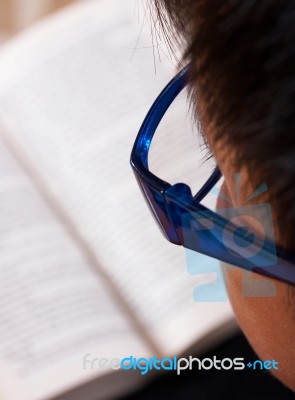
M187 84L185 67L164 88L148 112L131 153L131 166L162 233L171 243L234 266L295 285L295 259L274 241L209 210L201 201L221 178L217 168L196 195L184 183L170 185L149 171L148 154L155 131L171 103ZM262 205L265 206L265 205ZM250 231L250 230L251 231Z

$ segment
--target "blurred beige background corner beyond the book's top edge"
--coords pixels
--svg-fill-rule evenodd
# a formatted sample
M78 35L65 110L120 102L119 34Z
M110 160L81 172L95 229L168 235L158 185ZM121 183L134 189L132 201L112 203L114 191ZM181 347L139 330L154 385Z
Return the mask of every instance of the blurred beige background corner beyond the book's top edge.
M76 0L0 0L0 43Z

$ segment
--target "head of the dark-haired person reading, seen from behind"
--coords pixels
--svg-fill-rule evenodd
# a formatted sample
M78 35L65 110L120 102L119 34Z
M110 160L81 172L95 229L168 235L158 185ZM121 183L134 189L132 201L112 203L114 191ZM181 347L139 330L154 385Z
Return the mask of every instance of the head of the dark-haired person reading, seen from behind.
M166 37L191 63L192 101L225 190L234 202L237 172L244 176L244 196L265 182L263 201L272 207L276 242L294 251L295 2L154 4ZM276 290L273 298L244 298L241 271L228 273L241 327L259 356L279 361L278 377L295 390L294 288L276 283Z

